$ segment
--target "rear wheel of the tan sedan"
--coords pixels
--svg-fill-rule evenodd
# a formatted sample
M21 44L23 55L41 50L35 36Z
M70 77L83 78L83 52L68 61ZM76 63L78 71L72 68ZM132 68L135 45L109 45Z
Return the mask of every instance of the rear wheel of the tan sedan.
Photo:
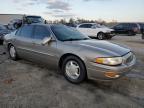
M16 53L15 47L13 45L10 45L8 51L9 51L10 59L16 61L18 57L17 57L17 53Z

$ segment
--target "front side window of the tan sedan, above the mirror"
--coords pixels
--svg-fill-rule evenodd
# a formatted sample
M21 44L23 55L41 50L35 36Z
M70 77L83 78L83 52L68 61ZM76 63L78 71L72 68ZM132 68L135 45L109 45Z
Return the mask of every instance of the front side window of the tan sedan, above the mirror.
M45 37L49 37L50 36L50 31L48 30L48 28L44 27L44 26L36 26L35 28L35 33L34 33L34 37L35 39L44 39Z

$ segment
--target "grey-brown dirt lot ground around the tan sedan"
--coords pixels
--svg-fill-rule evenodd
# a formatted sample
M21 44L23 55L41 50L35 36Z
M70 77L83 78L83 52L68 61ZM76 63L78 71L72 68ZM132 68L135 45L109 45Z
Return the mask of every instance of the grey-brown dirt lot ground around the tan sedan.
M112 42L129 46L137 64L113 82L67 82L57 71L25 60L12 61L0 46L0 108L144 108L144 40L116 36Z

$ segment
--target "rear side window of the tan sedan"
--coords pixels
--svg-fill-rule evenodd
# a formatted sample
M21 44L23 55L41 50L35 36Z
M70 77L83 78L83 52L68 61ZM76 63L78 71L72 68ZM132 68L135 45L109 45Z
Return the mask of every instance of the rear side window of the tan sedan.
M30 38L33 33L33 26L27 25L21 29L20 36Z

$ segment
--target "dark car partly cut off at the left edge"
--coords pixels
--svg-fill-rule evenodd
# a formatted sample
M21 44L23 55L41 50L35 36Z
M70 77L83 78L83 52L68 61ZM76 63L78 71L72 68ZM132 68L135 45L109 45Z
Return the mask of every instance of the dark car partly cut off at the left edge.
M4 25L0 25L0 44L3 43L3 38L6 34L10 33L10 31Z

